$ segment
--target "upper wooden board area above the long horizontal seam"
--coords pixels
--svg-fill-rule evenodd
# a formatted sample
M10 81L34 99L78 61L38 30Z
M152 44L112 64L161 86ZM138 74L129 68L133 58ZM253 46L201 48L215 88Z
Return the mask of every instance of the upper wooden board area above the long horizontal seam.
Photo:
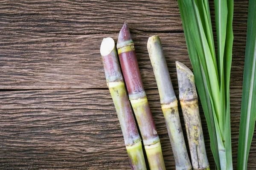
M121 7L125 12L117 10ZM236 1L234 11L230 82L240 88L247 1ZM1 1L0 15L0 89L106 88L100 43L104 37L116 40L124 20L131 26L145 88L156 88L146 49L153 34L161 37L174 84L176 60L191 68L176 0Z

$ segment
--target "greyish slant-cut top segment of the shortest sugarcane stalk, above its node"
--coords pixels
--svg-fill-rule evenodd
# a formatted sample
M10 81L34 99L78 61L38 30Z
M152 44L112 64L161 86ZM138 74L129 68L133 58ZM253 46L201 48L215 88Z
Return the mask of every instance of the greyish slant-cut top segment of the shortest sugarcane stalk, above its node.
M192 71L181 62L176 61L177 78L179 85L179 97L182 101L197 98L195 78Z

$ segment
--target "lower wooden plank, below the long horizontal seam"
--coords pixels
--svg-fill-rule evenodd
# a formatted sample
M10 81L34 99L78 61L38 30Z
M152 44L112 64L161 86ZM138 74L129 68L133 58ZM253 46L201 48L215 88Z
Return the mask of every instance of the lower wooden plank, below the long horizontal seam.
M178 94L177 89L175 93ZM175 162L158 92L151 89L146 90L146 94L166 167L173 170ZM233 164L236 167L241 89L232 88L230 96ZM215 169L201 107L200 110L207 156L211 169ZM130 169L108 90L2 91L0 117L0 169ZM186 135L181 112L180 117ZM255 156L256 135L248 170L255 168Z

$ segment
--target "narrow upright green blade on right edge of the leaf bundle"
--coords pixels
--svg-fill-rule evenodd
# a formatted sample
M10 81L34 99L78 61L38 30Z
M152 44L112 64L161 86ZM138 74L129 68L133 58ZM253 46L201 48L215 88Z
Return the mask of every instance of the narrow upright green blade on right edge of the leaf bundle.
M227 158L227 169L233 170L232 147L231 147L231 128L230 128L230 70L232 62L232 46L233 46L233 11L234 1L227 0L227 34L224 51L224 76L226 90L226 125L225 125L225 149Z

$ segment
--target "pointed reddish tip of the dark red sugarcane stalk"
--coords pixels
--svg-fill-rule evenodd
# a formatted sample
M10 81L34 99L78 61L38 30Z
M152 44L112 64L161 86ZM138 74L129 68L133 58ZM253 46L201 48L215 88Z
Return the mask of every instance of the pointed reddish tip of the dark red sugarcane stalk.
M133 41L131 39L128 23L124 23L121 31L119 32L116 48L119 49L129 44L133 44Z

